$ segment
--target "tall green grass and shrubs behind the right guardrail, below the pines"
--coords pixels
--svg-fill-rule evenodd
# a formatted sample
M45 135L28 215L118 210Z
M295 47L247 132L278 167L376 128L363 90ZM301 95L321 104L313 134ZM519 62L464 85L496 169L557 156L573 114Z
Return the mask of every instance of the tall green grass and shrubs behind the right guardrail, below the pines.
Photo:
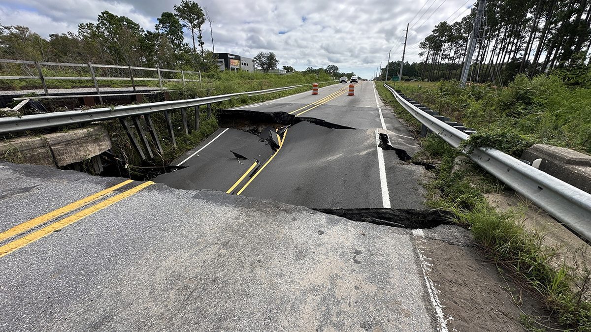
M397 83L409 97L486 133L512 132L535 143L591 153L591 87L558 76L519 75L508 87L458 82Z

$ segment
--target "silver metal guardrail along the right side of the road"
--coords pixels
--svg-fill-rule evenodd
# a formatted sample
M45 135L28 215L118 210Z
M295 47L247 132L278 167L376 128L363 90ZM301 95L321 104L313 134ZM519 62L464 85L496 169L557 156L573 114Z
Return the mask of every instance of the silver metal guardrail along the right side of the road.
M418 109L387 84L384 86L414 118L452 147L457 148L468 139L467 134ZM497 149L475 148L468 157L561 223L591 240L591 194Z

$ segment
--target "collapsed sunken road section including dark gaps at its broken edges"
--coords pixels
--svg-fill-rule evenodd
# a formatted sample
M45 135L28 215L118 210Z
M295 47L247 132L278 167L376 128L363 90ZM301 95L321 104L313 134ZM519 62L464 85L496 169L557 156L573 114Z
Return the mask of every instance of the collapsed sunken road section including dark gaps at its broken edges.
M410 164L418 148L396 135L382 131L376 141L375 129L355 129L285 112L222 110L219 123L220 128L229 129L184 162L183 169L153 181L185 190L225 192L256 163L232 191L237 193L277 151L277 129L284 145L241 195L396 227L427 228L447 220L445 212L426 209L424 197L416 190L430 165ZM382 206L378 149L384 153L391 209Z

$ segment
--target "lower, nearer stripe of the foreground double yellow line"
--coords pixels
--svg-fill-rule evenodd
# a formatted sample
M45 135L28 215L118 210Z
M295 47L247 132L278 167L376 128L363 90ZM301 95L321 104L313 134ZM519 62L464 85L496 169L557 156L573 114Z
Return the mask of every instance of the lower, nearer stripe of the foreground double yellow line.
M68 226L69 224L75 223L84 217L90 216L90 214L93 214L93 213L98 212L102 209L105 209L105 207L115 204L118 201L121 201L122 199L129 197L129 196L137 193L138 191L144 189L145 187L148 187L148 185L152 185L152 184L154 184L152 181L144 182L144 183L138 185L137 187L134 187L134 188L131 188L127 191L124 191L121 194L117 194L117 195L115 195L111 198L108 198L98 204L91 206L91 207L87 207L86 209L79 211L78 213L72 214L72 216L66 217L66 218L61 219L57 222L49 224L48 226L43 227L42 229L37 230L37 231L30 233L28 235L25 235L25 236L21 237L20 239L8 242L6 245L0 246L0 257L8 255L9 253L13 252L14 250L20 249L20 248L28 245L31 242L37 241L38 239L41 239L41 237L49 235L52 232L55 232L56 230L62 229L64 227Z

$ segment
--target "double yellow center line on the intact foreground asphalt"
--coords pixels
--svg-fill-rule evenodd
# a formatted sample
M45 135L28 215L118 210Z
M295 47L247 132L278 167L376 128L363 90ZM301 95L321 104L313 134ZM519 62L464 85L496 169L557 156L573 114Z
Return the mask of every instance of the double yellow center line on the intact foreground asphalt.
M13 252L14 250L20 249L25 245L28 245L31 242L34 242L41 237L49 235L51 232L55 232L56 230L60 230L63 227L68 226L78 220L90 216L97 211L105 209L112 204L117 203L118 201L123 200L126 197L129 197L138 191L148 187L148 185L154 184L152 181L147 181L133 187L129 190L126 190L122 193L116 194L115 196L106 198L106 200L100 201L99 203L87 207L86 209L80 210L70 216L67 216L63 219L59 217L63 216L64 214L71 213L74 210L77 210L83 206L86 206L89 203L99 200L100 198L106 197L109 194L113 193L113 191L123 187L124 185L130 184L134 181L126 180L122 183L113 185L110 188L106 188L105 190L99 191L98 193L92 194L88 197L82 198L81 200L77 200L74 203L67 204L64 207L60 207L60 209L51 211L49 213L43 214L42 216L35 217L27 222L18 224L17 226L12 227L11 229L5 230L4 232L0 233L0 243L4 242L11 237L18 237L17 239L11 240L8 243L0 246L0 257L8 255L9 253ZM26 233L30 230L33 230L35 227L41 226L43 224L47 224L47 226L42 227L41 229L34 230L33 232Z

